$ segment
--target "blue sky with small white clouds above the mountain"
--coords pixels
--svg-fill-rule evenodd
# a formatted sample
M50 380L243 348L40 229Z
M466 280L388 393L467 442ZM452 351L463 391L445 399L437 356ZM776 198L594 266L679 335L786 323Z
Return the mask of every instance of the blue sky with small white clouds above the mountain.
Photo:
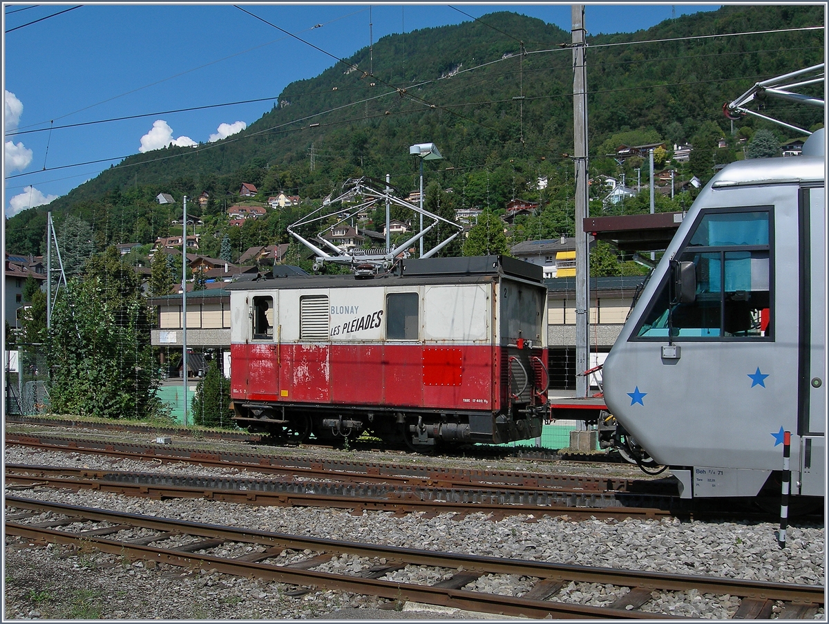
M290 82L335 62L231 5L75 6L3 7L7 216L65 195L121 157L237 132L270 110ZM371 39L470 20L444 4L244 6L343 58ZM453 6L473 17L520 12L570 31L569 4ZM718 6L587 5L584 22L589 34L636 32L670 19L672 10L679 17ZM263 101L57 128L241 100ZM66 167L106 158L115 159Z

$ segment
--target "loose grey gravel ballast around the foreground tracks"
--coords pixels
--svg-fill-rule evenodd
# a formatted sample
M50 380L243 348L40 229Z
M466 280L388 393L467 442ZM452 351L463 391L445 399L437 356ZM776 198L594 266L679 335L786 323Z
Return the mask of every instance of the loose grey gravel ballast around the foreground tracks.
M44 452L7 446L6 463L87 466L114 470L171 471L178 474L234 475L234 470L186 464L148 465L81 453ZM384 461L374 456L375 461ZM385 460L395 461L395 460ZM397 457L396 461L400 461ZM58 463L61 462L61 463ZM488 463L488 462L487 462ZM478 461L478 467L481 462ZM499 466L500 467L500 466ZM245 473L251 475L252 473ZM576 563L667 573L724 576L784 583L825 584L823 527L790 527L787 548L778 548L773 524L683 523L677 519L623 521L516 515L498 521L483 514L423 514L395 517L389 512L317 508L257 507L209 500L144 500L91 490L34 487L6 490L9 495L59 500L131 513L191 519L212 524L392 544L504 558ZM244 548L240 546L238 548ZM337 558L326 569L358 572L373 562ZM322 569L322 568L320 568ZM389 578L424 582L452 571L408 566ZM79 582L79 578L83 578ZM478 578L478 591L520 594L531 579ZM472 587L470 587L472 588ZM74 552L64 547L30 547L6 539L5 617L18 618L163 618L163 619L452 619L463 612L381 611L384 600L345 592L312 591L289 596L294 587L257 582L220 573L187 571L167 564L149 567L105 553ZM554 600L603 605L626 588L571 583ZM696 618L728 618L739 605L730 596L693 594L684 598L655 592L646 611ZM778 611L778 607L775 607ZM823 611L816 619L823 619Z

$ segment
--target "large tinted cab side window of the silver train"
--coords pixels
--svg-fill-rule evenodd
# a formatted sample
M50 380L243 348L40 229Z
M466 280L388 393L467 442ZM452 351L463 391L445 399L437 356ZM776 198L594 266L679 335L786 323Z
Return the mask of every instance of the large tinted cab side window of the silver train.
M674 301L670 275L639 325L638 337L771 336L769 212L709 212L679 261L695 266L696 296Z

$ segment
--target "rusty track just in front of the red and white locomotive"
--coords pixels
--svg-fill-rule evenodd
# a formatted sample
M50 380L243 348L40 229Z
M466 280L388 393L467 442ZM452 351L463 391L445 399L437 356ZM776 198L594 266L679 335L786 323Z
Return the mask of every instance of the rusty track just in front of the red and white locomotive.
M83 451L124 456L139 460L190 461L203 466L240 468L308 478L359 481L361 483L400 482L404 485L509 485L516 490L560 489L584 492L618 492L638 495L676 495L676 486L653 481L594 478L574 475L526 474L521 471L453 469L444 466L401 466L399 464L361 463L331 459L302 459L242 453L238 451L193 450L182 446L136 444L119 441L78 440L60 436L7 434L7 444L55 451ZM658 488L658 491L653 491Z

